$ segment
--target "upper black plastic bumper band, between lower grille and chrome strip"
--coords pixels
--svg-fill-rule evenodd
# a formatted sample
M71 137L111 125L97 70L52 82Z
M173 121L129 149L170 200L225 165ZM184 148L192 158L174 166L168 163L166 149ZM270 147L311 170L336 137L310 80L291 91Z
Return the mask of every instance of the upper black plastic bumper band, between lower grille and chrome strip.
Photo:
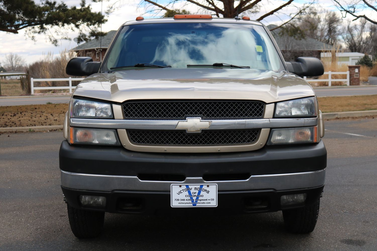
M98 147L61 143L60 169L72 173L138 176L140 174L250 175L297 173L326 167L326 148L317 144L265 146L234 153L145 153L123 147Z

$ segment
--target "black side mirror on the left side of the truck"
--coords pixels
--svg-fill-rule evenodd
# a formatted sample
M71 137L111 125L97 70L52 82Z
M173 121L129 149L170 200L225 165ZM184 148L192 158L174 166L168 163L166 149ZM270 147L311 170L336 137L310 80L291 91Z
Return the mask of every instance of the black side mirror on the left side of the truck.
M66 73L70 76L89 76L100 70L100 64L90 57L72 58L67 64Z

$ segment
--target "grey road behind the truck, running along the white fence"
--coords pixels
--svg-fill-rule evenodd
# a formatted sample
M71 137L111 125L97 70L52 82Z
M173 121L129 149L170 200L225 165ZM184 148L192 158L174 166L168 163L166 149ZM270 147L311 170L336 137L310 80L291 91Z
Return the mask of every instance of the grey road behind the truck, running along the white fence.
M372 86L349 86L349 87L316 87L314 91L318 97L325 96L348 96L348 95L371 95L377 94L377 80L373 78ZM17 96L14 98L0 97L0 106L21 106L29 104L68 103L70 95L56 96Z

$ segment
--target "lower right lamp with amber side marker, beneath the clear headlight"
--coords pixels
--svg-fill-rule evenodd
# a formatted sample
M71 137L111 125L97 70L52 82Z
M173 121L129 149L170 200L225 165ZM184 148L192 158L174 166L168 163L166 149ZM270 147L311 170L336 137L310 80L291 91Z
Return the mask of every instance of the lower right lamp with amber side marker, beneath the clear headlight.
M318 142L318 126L272 129L268 145Z

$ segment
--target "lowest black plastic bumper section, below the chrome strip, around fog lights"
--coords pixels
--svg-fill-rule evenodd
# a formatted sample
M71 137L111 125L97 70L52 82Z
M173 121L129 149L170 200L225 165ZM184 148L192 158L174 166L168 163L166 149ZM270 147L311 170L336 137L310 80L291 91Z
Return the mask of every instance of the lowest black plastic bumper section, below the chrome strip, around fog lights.
M274 212L289 208L299 208L313 204L321 195L323 186L298 190L254 190L254 191L219 191L218 207L212 208L172 208L170 207L170 192L146 191L84 191L61 187L69 205L75 208L110 213L127 214L243 214ZM307 193L307 199L302 204L281 207L280 197L286 194ZM80 204L80 195L104 196L106 207L91 208ZM198 212L199 211L199 212Z

